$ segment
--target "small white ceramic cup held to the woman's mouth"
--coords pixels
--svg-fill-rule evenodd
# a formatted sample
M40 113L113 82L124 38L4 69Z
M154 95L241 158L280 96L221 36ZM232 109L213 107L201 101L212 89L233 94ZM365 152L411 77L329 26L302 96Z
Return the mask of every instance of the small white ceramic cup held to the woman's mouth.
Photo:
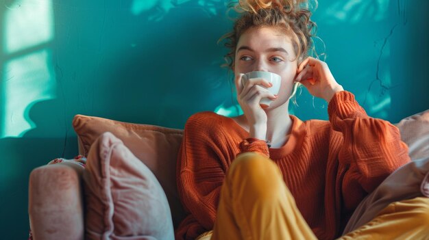
M271 88L265 88L265 86L262 86L262 88L269 90L269 92L272 94L278 94L278 91L280 90L280 84L282 83L282 77L280 75L275 74L274 72L264 71L247 72L245 75L243 75L243 77L241 77L241 84L244 86L246 81L256 78L262 78L267 80L269 83L273 83ZM269 98L262 98L259 103L261 107L269 107L272 102L273 101Z

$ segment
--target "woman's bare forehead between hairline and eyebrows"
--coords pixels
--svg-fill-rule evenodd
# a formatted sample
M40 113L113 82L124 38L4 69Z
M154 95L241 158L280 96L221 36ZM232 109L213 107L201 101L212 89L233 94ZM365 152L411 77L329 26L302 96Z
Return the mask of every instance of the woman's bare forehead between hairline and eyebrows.
M248 29L239 38L236 49L241 46L249 46L255 51L282 47L289 54L295 53L291 37L282 30L273 27Z

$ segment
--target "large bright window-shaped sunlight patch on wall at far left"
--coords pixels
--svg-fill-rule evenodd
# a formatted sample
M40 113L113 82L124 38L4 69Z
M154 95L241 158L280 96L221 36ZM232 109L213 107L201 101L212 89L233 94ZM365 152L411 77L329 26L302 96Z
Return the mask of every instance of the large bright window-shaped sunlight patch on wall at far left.
M5 3L2 84L3 119L0 138L22 137L35 127L28 111L34 103L55 97L51 69L53 39L51 1Z

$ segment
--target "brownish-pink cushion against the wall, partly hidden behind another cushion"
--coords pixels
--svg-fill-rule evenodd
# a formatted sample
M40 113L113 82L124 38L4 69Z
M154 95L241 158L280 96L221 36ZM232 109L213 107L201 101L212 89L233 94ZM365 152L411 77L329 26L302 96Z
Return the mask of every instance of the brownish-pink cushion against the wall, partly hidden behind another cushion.
M79 137L79 152L84 156L95 139L106 131L121 139L158 178L169 200L173 225L180 224L185 213L177 194L175 166L183 130L83 115L73 118L73 128Z

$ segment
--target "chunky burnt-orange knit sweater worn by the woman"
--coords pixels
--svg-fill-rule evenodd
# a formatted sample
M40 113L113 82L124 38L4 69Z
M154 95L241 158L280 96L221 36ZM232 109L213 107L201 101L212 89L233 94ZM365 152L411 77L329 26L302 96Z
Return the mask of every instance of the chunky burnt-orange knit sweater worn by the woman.
M212 230L225 173L236 155L249 151L277 163L318 239L339 237L359 202L410 159L399 130L369 118L352 93L336 93L328 114L329 121L290 116L291 136L281 148L264 141L244 144L249 133L231 118L191 116L177 159L177 187L188 216L175 238L195 239Z

